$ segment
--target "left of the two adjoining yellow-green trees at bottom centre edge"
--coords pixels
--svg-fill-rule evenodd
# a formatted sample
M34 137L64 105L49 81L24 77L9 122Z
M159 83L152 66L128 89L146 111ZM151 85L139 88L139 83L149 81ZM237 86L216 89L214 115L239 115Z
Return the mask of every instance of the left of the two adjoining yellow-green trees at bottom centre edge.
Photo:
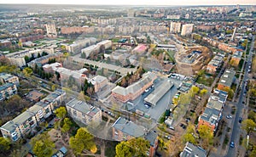
M131 149L125 141L119 143L115 147L115 157L132 157L134 154L134 149Z

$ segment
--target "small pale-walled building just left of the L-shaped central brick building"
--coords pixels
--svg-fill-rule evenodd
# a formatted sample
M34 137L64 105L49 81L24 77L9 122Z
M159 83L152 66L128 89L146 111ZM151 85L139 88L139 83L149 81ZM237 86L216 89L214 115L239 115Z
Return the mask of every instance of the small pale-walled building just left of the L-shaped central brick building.
M95 76L92 79L89 79L89 81L93 84L95 93L108 85L108 79L104 76Z

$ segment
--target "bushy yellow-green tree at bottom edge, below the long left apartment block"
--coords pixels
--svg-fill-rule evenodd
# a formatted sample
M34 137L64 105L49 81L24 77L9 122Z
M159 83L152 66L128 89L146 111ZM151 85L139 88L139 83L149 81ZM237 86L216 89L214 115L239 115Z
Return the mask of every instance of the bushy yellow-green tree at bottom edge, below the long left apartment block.
M32 137L30 144L32 145L33 153L38 157L50 157L55 152L55 143L53 143L49 135L45 133Z

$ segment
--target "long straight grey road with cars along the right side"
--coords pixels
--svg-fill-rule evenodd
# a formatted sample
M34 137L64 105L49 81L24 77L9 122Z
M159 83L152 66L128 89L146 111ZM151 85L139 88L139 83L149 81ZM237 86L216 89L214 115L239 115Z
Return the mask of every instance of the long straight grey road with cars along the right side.
M249 56L247 58L247 63L249 61L252 61L252 56L253 56L253 48L254 48L254 36L253 36L253 41L252 41L252 45L251 45L251 49L250 49L250 53ZM238 122L239 117L242 116L241 115L241 111L244 108L242 101L244 99L244 92L246 91L245 89L245 81L247 81L247 77L248 77L248 64L246 64L245 66L245 72L244 72L244 77L241 81L241 93L240 93L240 97L239 97L239 101L236 103L236 118L234 121L234 126L233 126L233 130L232 130L232 135L230 138L230 141L234 141L234 143L236 143L236 147L235 148L230 148L228 150L228 153L226 154L226 157L233 157L236 156L236 151L237 151L237 146L239 143L239 135L240 135L240 123Z

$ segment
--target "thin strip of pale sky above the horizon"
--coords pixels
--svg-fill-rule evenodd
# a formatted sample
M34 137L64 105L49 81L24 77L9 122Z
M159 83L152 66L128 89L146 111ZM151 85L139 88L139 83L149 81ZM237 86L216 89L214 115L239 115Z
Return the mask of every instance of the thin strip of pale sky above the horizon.
M0 0L0 3L99 5L256 5L256 0Z

